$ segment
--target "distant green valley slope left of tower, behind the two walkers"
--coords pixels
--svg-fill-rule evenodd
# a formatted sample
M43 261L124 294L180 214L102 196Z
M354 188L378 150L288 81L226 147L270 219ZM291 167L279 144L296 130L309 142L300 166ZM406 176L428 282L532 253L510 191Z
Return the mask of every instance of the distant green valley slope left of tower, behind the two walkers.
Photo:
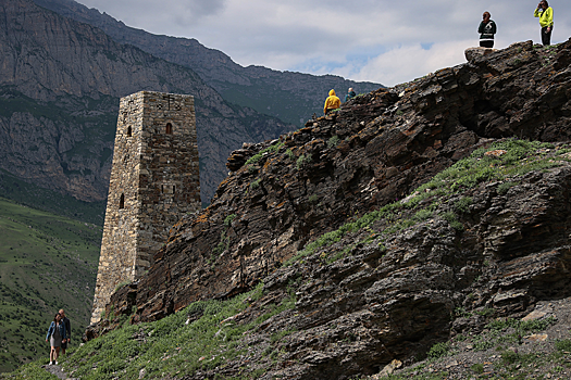
M65 308L75 342L89 321L101 227L0 198L0 371L46 356Z

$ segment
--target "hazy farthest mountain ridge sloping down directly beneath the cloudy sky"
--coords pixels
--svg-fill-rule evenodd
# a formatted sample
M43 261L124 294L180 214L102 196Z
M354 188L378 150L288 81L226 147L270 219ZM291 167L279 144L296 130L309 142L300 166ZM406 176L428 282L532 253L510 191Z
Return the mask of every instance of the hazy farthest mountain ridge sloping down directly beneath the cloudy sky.
M133 45L154 56L191 68L231 103L252 107L296 126L302 126L313 113L321 115L323 102L332 88L343 99L350 87L357 93L368 93L382 87L334 75L314 76L262 66L243 67L223 52L209 49L193 38L157 36L128 27L73 0L35 1L66 17L96 26L120 43Z

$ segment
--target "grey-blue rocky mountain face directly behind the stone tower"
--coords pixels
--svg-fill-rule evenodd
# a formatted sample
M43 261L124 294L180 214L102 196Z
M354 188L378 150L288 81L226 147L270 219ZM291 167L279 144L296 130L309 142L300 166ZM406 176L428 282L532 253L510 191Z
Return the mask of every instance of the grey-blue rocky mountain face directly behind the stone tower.
M291 128L228 104L188 68L33 1L5 1L0 14L0 165L27 181L103 200L119 98L139 90L196 97L203 201L233 149Z

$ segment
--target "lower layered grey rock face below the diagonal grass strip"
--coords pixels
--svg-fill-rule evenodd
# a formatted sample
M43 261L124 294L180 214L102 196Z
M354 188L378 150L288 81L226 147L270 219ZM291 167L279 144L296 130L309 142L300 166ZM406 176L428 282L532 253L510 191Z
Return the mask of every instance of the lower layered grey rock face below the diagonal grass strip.
M521 318L537 301L569 296L571 166L562 165L529 174L506 193L499 182L466 193L473 203L459 217L462 230L431 217L370 242L365 231L274 271L264 278L264 297L237 318L250 322L291 292L297 302L252 333L248 359L268 369L264 379L373 375L394 359L423 357L450 335L481 331L486 311ZM443 199L434 215L459 199ZM343 250L345 257L330 263ZM458 309L481 314L458 317ZM262 351L280 331L289 333L273 347L282 354L272 365ZM244 365L236 359L190 378L232 376Z

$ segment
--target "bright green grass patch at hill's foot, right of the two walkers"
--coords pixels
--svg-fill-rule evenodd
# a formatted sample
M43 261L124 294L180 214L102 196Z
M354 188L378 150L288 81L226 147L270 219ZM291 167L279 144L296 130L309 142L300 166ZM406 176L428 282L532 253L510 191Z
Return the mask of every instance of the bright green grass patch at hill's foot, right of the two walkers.
M233 316L262 296L262 288L260 283L252 291L227 301L195 302L157 322L125 325L76 349L73 355L62 359L63 367L72 377L83 380L138 379L141 370L149 379L182 378L197 370L220 368L238 356L249 357L252 353L248 350L248 332L272 316L294 308L296 302L291 290L281 304L266 305L256 320L234 322ZM201 317L186 325L188 315ZM293 331L291 328L276 331L268 341L275 343ZM244 379L262 375L263 370L255 372L244 368Z

